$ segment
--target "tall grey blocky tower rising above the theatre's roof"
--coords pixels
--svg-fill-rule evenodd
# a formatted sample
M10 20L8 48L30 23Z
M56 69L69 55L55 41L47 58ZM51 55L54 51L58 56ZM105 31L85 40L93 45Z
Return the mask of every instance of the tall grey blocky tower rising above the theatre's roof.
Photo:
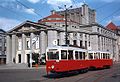
M57 14L65 16L65 11L58 11ZM67 19L79 24L89 25L96 22L96 11L89 8L87 4L83 4L79 8L72 8L67 10Z

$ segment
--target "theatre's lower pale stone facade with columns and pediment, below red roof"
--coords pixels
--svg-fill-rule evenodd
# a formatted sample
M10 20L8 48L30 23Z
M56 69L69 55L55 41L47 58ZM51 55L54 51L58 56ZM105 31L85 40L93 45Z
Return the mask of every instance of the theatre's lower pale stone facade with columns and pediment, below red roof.
M68 31L68 42L87 50L109 51L117 61L117 38L99 24L78 26ZM54 42L57 42L54 44ZM45 54L48 46L65 45L65 31L26 21L7 33L7 63L32 61L31 54Z

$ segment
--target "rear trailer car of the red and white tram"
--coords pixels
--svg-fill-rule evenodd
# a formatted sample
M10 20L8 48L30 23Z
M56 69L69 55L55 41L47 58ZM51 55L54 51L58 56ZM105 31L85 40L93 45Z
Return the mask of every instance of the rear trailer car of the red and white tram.
M112 54L105 51L88 51L89 68L110 68L113 64Z

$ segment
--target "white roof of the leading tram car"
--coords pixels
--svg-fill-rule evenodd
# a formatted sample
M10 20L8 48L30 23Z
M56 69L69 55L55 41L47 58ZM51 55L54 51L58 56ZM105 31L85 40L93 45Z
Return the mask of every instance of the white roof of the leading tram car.
M70 47L70 46L51 46L51 47L47 47L47 49L87 51L86 49L82 49L82 48L78 48L78 47Z

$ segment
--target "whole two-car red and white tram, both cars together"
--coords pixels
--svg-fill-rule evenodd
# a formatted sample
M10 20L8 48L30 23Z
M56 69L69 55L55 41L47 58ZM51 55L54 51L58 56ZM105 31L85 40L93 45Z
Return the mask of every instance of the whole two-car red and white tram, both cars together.
M87 51L86 49L55 46L46 49L46 71L64 73L112 66L109 52Z

